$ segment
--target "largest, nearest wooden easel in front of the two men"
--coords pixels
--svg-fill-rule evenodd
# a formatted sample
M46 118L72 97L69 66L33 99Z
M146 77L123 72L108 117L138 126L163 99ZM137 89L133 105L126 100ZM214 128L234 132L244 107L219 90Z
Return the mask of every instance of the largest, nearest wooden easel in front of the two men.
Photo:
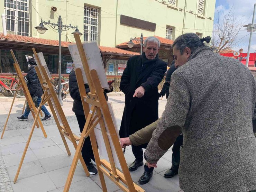
M67 192L70 189L71 181L75 172L79 154L81 153L81 150L83 147L84 139L88 136L90 136L91 145L92 145L95 161L96 161L98 172L99 172L102 190L107 191L107 186L106 186L106 182L104 180L104 175L103 175L105 174L112 182L114 182L117 186L119 186L119 188L122 189L123 191L144 192L145 190L143 190L140 186L134 183L131 179L131 175L126 164L125 156L122 152L122 148L119 143L117 132L108 108L108 104L107 104L106 98L104 97L103 90L101 88L98 74L95 70L91 70L89 72L88 62L85 57L84 49L83 49L79 34L74 34L74 37L75 37L76 45L77 45L80 58L83 64L83 70L85 71L86 79L88 80L90 93L88 93L88 95L86 94L86 91L84 88L84 82L82 78L82 71L80 68L76 68L75 73L76 73L77 83L79 86L80 96L82 99L84 115L86 117L86 123L81 133L82 139L80 139L79 141L78 147L76 149L76 152L73 158L73 162L67 177L64 192ZM90 109L89 109L89 104L91 105ZM118 160L121 165L123 173L119 171L115 166L115 162L113 159L113 154L111 151L109 138L107 136L107 130L106 130L106 126L104 124L103 118L105 119L105 122L107 124L109 134L111 136L111 141L115 147L115 152L118 156ZM98 123L100 124L102 136L104 139L104 144L106 146L107 153L108 153L109 162L106 159L100 159L100 156L99 156L97 141L94 133L94 128L95 126L97 126ZM125 185L127 185L127 187L123 185L120 181L122 181Z

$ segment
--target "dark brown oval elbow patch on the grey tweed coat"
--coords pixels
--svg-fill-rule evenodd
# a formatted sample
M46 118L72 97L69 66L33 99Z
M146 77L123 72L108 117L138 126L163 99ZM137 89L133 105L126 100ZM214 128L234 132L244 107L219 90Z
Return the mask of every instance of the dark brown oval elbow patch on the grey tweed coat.
M164 130L158 138L158 145L162 150L168 150L176 138L181 134L180 126L172 126Z

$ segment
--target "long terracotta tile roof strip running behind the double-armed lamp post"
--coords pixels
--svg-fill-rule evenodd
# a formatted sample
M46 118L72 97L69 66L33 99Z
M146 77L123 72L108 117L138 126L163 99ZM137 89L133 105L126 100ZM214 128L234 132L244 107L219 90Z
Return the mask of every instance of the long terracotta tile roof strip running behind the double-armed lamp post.
M27 37L27 36L21 36L21 35L13 35L13 34L7 34L6 36L4 36L3 33L0 33L0 39L19 41L19 42L25 42L25 43L44 44L44 45L51 45L51 46L59 45L58 40L49 40L49 39ZM68 44L71 44L71 42L64 42L64 41L61 42L62 47L67 47ZM106 52L106 53L113 53L113 54L116 53L116 54L124 54L124 55L139 55L139 53L127 51L127 50L119 49L119 48L115 48L115 47L104 47L104 46L99 46L99 47L102 52Z

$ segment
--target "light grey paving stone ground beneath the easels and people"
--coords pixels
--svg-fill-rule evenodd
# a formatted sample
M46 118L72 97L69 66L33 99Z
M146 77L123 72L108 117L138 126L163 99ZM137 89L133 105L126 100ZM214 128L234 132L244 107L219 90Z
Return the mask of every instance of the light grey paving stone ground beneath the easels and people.
M124 95L109 96L109 101L113 104L119 127L125 106L124 99ZM31 115L28 121L17 121L17 117L22 112L23 104L24 101L22 100L14 103L6 132L3 139L0 140L0 192L63 191L75 150L72 143L67 140L71 151L71 156L67 156L63 141L53 119L43 121L47 138L44 138L40 128L35 129L17 183L13 184L13 179L33 124L33 117ZM165 98L159 100L159 116L162 114L165 104ZM11 102L1 102L0 98L0 134L2 133L10 106ZM78 135L80 133L79 127L72 111L72 106L73 100L68 96L62 108L72 131ZM47 107L47 109L49 108ZM172 150L169 150L159 160L158 167L155 168L150 182L141 185L143 189L150 192L181 191L177 175L171 179L163 177L165 171L172 165L171 156ZM125 158L128 166L135 159L130 146L126 149ZM138 184L139 177L143 172L143 166L139 167L137 171L130 172L132 180ZM121 191L107 177L105 179L108 191ZM98 174L86 177L81 163L79 163L75 170L70 191L102 191Z

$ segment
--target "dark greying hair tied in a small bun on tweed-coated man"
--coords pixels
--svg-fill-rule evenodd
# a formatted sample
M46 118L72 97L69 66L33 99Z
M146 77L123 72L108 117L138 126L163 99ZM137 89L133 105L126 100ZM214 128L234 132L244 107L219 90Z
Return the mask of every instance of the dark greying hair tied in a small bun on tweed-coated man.
M186 33L180 35L177 39L175 39L172 47L175 46L177 50L180 50L180 53L182 55L186 47L189 47L192 53L198 47L205 46L203 43L204 41L206 43L210 43L210 40L210 36L200 39L195 33Z

